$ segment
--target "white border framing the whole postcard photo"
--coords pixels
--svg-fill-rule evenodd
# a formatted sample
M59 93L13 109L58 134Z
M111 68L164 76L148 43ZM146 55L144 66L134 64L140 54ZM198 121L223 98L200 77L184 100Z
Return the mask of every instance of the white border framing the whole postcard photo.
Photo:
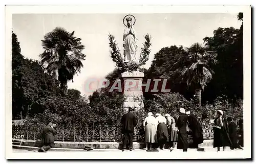
M244 150L230 152L69 152L13 153L11 110L11 30L12 14L86 14L86 13L239 13L243 12L243 73L244 73ZM251 158L251 6L172 6L172 5L13 5L5 7L5 157L6 159L238 159Z

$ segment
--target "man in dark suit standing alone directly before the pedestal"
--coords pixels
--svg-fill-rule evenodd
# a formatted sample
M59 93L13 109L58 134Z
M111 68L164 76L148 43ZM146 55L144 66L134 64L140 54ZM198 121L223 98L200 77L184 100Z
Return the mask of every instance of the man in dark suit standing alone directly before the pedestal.
M134 133L134 127L136 126L137 121L132 111L133 111L133 108L129 107L129 112L126 114L123 114L121 119L122 134L124 135L122 151L124 151L127 145L127 139L129 139L130 151L133 150L133 133Z

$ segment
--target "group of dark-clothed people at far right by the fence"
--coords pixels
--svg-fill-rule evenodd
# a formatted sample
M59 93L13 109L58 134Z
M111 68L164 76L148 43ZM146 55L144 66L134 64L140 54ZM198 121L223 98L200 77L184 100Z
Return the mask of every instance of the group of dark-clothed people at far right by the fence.
M214 148L220 151L226 146L230 149L243 149L243 120L239 120L238 126L231 117L225 119L222 110L217 111L217 117L214 120Z

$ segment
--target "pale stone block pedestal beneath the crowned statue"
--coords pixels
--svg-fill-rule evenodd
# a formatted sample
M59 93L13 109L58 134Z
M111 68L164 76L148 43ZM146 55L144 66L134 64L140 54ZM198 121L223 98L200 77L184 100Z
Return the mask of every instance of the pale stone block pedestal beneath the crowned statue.
M121 74L123 82L123 94L125 101L123 103L124 111L127 112L129 107L139 110L144 107L142 93L142 79L144 73L139 71L124 72Z

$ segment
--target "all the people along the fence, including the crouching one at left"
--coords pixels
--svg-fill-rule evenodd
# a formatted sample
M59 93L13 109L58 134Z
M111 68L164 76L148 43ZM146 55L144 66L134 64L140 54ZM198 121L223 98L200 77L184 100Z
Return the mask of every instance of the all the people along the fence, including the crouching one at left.
M133 149L133 134L137 124L136 116L133 114L133 108L129 108L129 112L122 116L122 134L123 147L122 151L129 144L130 151ZM170 151L176 147L187 151L188 140L187 134L190 133L193 137L192 148L198 148L198 145L203 143L203 130L193 111L185 111L180 108L180 115L176 116L165 114L164 116L157 113L153 116L152 112L147 113L144 120L145 143L147 150L160 149L163 150L166 143L170 143ZM214 148L220 151L226 146L230 149L243 149L243 120L239 120L238 126L234 123L231 117L224 119L222 110L217 111L216 119L214 120ZM39 148L39 152L46 152L54 146L54 135L56 131L51 122L43 128L42 138L44 138L44 146ZM90 148L89 150L92 150Z

